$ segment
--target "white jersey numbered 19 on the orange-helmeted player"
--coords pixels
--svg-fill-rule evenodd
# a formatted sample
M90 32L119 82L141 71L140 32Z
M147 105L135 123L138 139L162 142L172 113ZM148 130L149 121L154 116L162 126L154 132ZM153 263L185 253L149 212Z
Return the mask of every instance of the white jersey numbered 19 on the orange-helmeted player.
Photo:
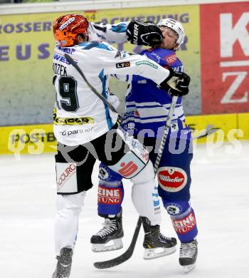
M68 53L85 73L88 82L106 99L111 74L135 74L159 84L169 71L147 56L117 51L102 41L73 47L55 47L53 54L56 115L54 133L64 145L80 145L100 137L115 125L117 113L91 91L78 71L63 56Z

